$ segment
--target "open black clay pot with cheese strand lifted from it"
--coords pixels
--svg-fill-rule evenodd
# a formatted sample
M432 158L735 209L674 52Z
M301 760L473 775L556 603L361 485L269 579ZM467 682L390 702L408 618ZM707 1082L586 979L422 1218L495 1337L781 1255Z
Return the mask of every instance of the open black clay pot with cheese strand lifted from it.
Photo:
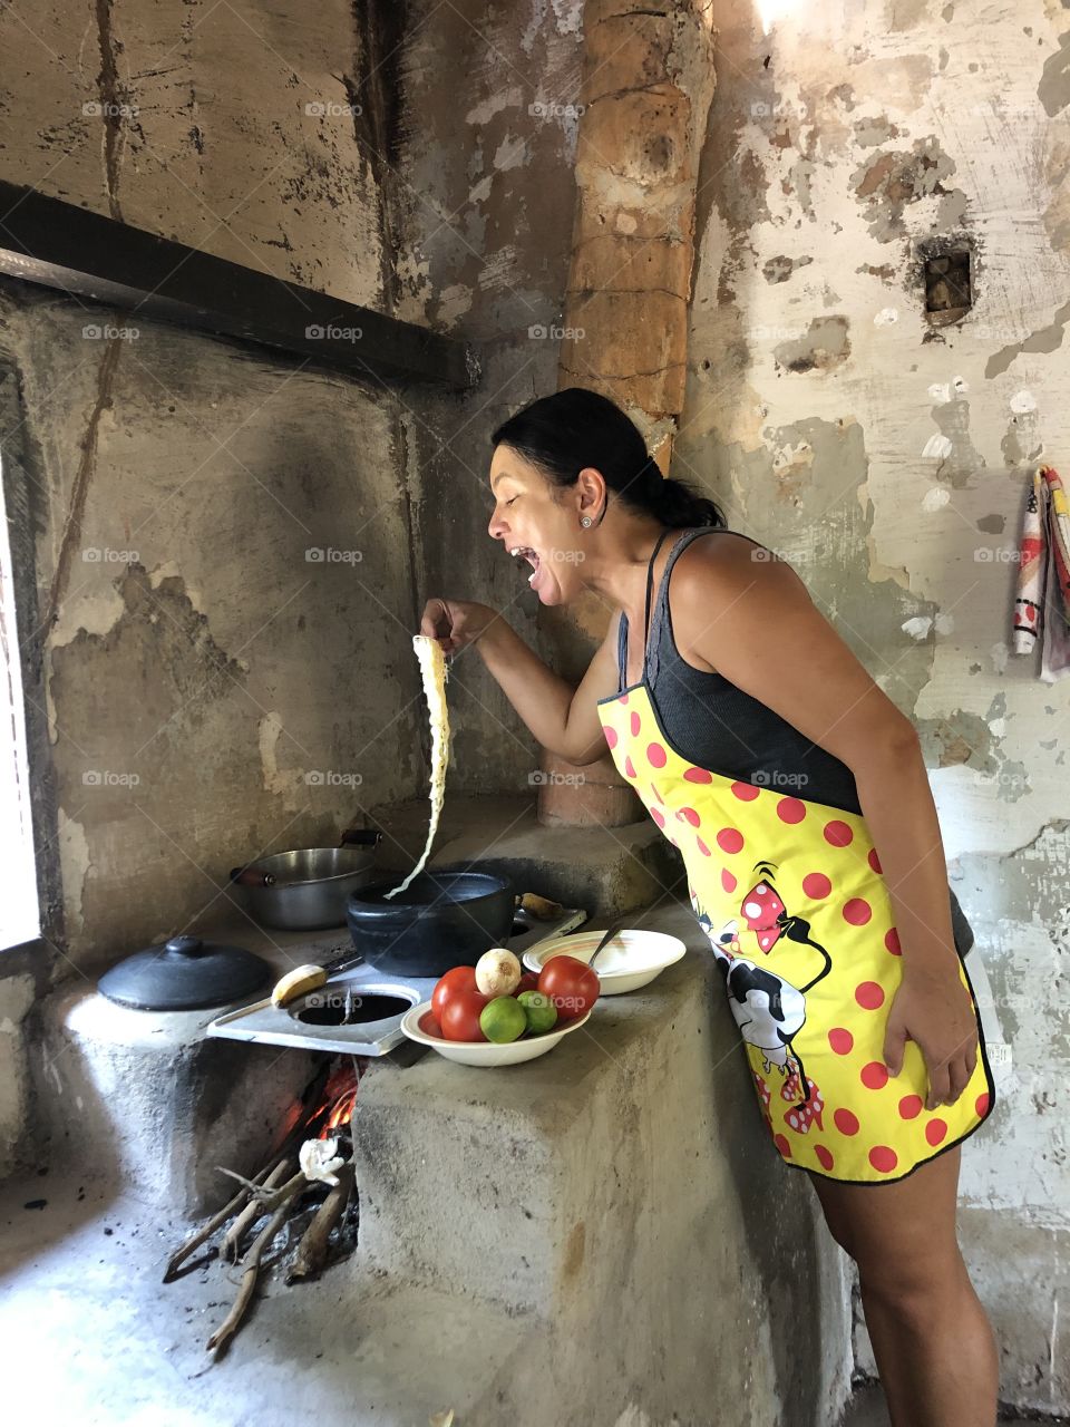
M352 945L375 970L438 977L508 945L514 892L504 878L441 868L387 898L398 880L360 888L347 902Z

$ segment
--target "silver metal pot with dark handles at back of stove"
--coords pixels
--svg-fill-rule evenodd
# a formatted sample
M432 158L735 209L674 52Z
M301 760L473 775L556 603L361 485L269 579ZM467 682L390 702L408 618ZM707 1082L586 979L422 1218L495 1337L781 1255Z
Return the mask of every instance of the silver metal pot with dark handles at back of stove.
M314 932L345 925L351 892L377 876L375 848L382 833L348 831L338 848L300 848L234 868L233 886L264 926Z

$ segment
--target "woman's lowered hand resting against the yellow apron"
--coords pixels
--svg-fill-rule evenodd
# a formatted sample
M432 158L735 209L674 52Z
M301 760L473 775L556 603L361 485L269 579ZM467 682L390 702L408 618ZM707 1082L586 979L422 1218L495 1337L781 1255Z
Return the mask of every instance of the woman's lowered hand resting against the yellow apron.
M977 1065L977 1019L957 966L957 955L954 965L939 969L909 966L905 959L887 1017L885 1065L899 1075L906 1042L917 1042L929 1072L926 1110L954 1104Z

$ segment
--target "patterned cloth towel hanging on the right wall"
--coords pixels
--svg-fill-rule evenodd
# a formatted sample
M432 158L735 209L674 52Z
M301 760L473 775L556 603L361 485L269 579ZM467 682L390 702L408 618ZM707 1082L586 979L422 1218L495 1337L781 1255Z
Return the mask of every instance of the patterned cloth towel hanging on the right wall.
M1041 639L1040 678L1070 674L1070 512L1059 472L1033 472L1019 541L1019 577L1012 626L1014 654L1031 654Z

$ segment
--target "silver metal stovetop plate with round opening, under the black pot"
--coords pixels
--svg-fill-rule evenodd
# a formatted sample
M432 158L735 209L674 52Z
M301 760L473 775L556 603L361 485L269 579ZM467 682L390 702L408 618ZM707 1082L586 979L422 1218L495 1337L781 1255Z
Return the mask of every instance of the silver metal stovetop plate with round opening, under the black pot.
M516 932L509 938L509 950L522 959L529 946L548 936L564 936L582 926L585 920L586 912L581 912L578 908L566 908L561 916L545 922L538 922L525 912L518 912L516 922L525 923L528 930ZM351 942L338 943L338 946L328 949L324 960L342 960L347 949L352 950ZM265 1046L294 1046L300 1050L325 1050L335 1055L384 1056L405 1040L401 1017L421 1000L431 999L437 980L437 976L384 976L382 972L377 972L364 960L344 962L338 970L331 973L325 986L298 997L288 1006L272 1006L271 997L267 997L251 1006L243 1006L240 1010L217 1016L205 1027L205 1032L227 1040L248 1040ZM354 1025L315 1025L301 1020L301 1016L310 1012L330 1013L332 1007L344 1006L347 995L354 997L397 996L405 1002L405 1006L379 1020L364 1020Z

